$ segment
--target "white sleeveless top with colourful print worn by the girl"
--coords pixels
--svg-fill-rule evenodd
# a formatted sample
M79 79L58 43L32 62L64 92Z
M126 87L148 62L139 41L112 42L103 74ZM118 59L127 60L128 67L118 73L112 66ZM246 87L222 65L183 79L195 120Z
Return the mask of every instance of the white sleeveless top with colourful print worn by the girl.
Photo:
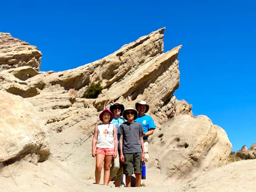
M98 138L96 147L99 148L114 148L114 125L100 123L98 127Z

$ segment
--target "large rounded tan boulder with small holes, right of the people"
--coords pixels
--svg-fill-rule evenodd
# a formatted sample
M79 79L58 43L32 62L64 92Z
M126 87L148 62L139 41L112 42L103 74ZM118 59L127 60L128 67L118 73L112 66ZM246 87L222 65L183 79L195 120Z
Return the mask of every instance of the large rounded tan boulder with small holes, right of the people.
M226 164L231 150L225 131L208 117L178 115L154 131L148 172L162 181L188 178Z

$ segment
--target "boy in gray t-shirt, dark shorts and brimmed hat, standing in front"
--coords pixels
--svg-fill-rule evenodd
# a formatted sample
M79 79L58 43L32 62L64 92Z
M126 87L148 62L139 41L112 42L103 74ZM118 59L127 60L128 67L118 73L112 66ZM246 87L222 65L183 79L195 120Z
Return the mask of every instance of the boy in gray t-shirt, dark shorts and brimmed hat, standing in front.
M118 129L120 134L120 161L124 162L124 174L126 175L126 186L131 186L132 170L136 177L135 186L140 187L141 161L145 161L144 143L142 139L142 125L134 122L138 113L132 107L123 112L127 121L122 123Z

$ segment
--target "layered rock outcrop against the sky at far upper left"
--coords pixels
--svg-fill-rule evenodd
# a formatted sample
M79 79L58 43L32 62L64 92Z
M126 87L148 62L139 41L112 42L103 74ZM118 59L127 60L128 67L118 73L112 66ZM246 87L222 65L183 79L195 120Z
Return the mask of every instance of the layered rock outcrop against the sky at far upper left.
M22 66L39 70L41 58L42 53L36 46L0 32L0 71Z

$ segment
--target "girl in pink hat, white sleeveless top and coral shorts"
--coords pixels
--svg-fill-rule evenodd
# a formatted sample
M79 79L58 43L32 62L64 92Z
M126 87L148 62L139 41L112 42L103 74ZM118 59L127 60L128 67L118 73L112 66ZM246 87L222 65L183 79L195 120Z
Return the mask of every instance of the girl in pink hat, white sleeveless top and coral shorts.
M99 117L102 123L95 126L92 138L92 157L96 156L95 183L100 184L104 162L104 185L108 185L111 161L117 155L117 131L116 126L110 124L114 114L109 109L104 109Z

